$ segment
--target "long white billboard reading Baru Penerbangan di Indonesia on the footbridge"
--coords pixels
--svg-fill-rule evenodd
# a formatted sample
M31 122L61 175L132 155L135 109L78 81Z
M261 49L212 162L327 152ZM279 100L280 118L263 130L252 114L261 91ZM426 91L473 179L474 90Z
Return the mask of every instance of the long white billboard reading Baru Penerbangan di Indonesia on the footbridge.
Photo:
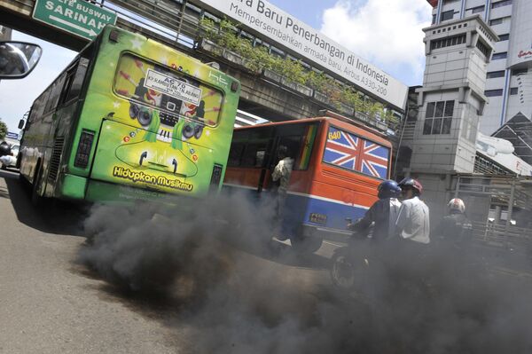
M198 0L273 42L297 52L317 67L340 75L361 90L403 110L408 87L332 39L262 0ZM371 35L371 28L368 28Z

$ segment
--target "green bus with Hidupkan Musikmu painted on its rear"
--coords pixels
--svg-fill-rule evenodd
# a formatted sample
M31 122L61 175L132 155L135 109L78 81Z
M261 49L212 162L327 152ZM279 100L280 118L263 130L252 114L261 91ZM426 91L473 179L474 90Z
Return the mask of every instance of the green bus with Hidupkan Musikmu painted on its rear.
M35 202L205 196L223 182L239 92L215 67L107 26L35 99L20 176Z

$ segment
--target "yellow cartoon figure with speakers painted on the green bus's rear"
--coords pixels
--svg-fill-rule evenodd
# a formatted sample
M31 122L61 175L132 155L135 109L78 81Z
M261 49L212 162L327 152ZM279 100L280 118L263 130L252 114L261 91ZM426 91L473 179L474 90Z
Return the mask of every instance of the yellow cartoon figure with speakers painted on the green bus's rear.
M192 177L200 159L193 145L215 131L212 128L218 122L223 95L182 67L172 67L175 70L130 54L121 57L114 90L129 100L128 124L137 130L129 133L116 155L132 167L148 166ZM168 144L173 148L170 153L165 147Z

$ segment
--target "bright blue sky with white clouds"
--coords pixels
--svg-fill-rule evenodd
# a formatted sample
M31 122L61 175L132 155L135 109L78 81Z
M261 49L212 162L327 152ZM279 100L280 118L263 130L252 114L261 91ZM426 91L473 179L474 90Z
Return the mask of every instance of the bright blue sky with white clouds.
M400 82L423 82L425 54L421 28L430 25L426 0L270 0L270 4L317 28ZM304 5L303 5L304 4ZM74 59L75 52L13 32L12 40L37 43L43 57L22 80L0 81L0 119L17 132L34 99Z

